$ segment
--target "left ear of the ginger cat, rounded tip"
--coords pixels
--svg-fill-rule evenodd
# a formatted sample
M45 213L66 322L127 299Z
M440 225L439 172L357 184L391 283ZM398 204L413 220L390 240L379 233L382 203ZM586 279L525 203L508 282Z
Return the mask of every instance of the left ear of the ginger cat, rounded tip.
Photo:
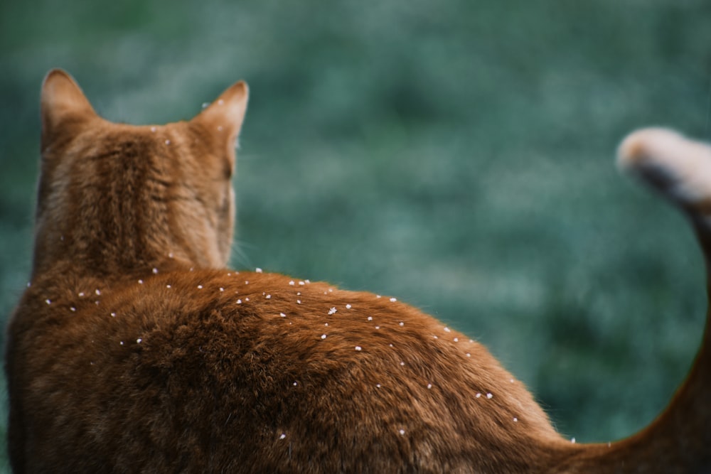
M40 103L43 149L60 127L97 117L79 85L60 69L50 70L45 77Z

